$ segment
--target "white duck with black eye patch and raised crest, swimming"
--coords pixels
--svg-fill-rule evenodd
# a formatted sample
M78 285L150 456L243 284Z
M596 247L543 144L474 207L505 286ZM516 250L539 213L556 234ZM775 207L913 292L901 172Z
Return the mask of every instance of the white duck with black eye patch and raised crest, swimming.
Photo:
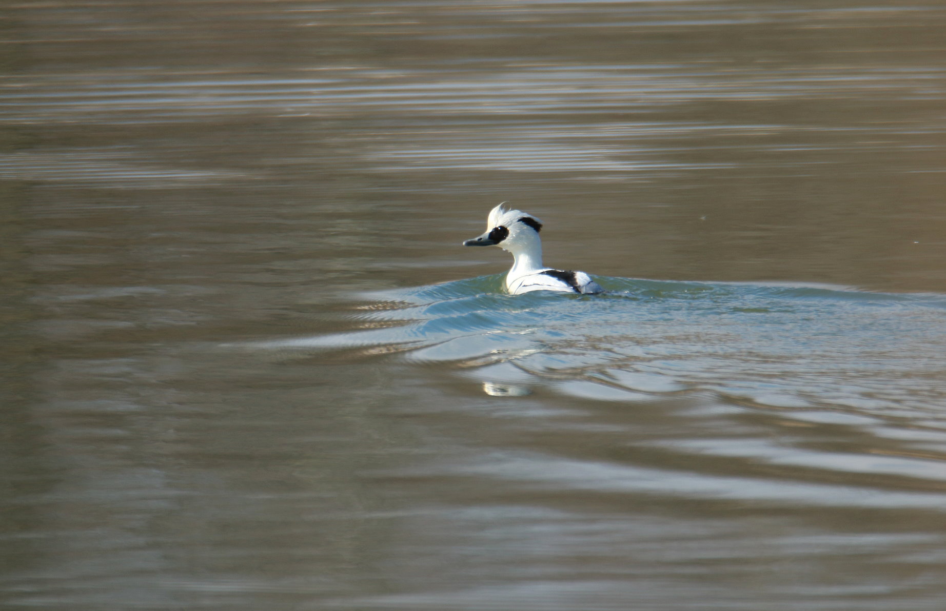
M503 201L502 203L505 203ZM584 271L552 270L542 266L542 222L519 210L506 210L502 203L490 210L486 233L464 242L464 246L499 246L513 253L513 269L506 275L506 289L514 295L533 290L600 293Z

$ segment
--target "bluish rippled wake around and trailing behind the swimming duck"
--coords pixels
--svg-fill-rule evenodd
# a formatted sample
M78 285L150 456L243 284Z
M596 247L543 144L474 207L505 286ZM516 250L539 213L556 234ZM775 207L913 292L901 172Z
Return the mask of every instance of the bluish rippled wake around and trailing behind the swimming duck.
M942 416L946 296L830 286L598 278L607 292L509 295L502 275L366 295L380 327L260 344L396 353L527 393L647 400L709 391L761 408L878 421ZM851 416L853 422L859 422Z

